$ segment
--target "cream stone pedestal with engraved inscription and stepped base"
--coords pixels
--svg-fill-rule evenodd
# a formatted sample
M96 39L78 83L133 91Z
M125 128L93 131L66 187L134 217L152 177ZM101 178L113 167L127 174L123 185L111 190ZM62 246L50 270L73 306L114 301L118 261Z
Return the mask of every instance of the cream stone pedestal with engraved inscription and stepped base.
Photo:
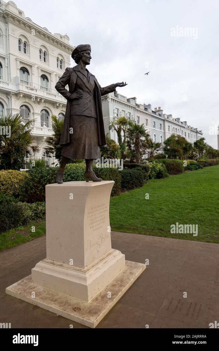
M111 247L113 185L46 185L46 259L6 293L90 327L99 323L146 268L125 262L124 254Z

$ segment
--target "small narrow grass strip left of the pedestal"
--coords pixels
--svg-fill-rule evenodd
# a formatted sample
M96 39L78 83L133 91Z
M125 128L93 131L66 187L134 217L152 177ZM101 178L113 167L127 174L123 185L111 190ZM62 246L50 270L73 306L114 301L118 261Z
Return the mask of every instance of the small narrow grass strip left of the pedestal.
M32 226L35 226L35 233L32 233ZM0 251L9 249L10 247L26 243L34 238L41 237L46 234L46 221L39 219L28 225L12 228L5 233L0 234Z

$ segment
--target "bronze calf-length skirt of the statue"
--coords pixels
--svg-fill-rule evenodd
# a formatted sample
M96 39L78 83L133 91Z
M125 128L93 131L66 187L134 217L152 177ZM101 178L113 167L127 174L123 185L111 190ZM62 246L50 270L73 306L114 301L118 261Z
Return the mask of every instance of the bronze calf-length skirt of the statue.
M62 155L68 158L93 159L101 158L97 118L83 115L70 115L70 143L63 147Z

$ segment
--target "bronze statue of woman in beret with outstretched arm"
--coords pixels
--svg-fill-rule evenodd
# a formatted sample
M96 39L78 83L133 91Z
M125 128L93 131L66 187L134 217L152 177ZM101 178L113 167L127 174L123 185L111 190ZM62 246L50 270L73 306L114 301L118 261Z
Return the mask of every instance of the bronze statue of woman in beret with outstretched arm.
M56 84L56 90L67 99L60 145L64 145L56 183L63 183L63 172L69 159L85 159L86 181L101 181L92 170L94 159L100 158L99 147L106 145L101 96L123 87L126 82L111 84L102 88L86 65L91 60L90 45L78 45L71 57L76 62L73 68L66 68ZM65 86L69 86L69 91Z

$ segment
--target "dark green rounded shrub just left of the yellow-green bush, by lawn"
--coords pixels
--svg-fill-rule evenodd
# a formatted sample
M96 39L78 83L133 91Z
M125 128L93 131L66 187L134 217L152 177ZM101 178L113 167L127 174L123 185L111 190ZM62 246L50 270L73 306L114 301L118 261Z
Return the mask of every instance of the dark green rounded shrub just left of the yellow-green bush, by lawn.
M123 169L121 172L122 190L131 190L143 186L148 179L146 172L141 167Z

